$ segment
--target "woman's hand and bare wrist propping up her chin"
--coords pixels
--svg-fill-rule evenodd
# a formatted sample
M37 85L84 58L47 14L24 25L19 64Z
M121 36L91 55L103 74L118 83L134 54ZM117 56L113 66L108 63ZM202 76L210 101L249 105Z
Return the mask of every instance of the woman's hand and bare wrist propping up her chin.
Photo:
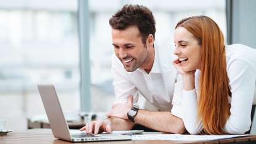
M193 90L193 89L195 89L195 86L194 86L194 73L196 72L196 70L193 70L193 71L183 71L181 62L178 59L174 60L174 62L172 64L178 70L178 73L182 74L183 89L185 89L185 90Z

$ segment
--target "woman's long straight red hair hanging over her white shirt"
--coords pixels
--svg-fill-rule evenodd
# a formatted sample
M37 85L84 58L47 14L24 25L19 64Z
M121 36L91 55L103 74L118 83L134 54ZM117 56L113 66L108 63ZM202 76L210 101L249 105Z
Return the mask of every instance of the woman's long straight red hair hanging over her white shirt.
M207 134L224 134L223 127L230 116L228 76L222 31L209 17L188 17L178 22L190 31L201 45L198 121Z

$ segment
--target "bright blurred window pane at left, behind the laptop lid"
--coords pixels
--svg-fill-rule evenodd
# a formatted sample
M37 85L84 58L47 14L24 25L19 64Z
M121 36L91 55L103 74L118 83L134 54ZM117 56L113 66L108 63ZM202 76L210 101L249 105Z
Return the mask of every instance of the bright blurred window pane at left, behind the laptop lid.
M77 7L71 0L1 2L0 118L8 129L26 129L26 118L45 113L37 84L54 83L63 111L79 111Z

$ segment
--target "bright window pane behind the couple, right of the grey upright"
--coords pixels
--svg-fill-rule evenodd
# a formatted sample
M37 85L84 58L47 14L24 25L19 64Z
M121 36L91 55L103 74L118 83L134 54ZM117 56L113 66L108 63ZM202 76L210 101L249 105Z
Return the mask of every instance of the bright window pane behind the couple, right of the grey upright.
M90 70L92 80L92 110L108 111L114 101L111 56L113 46L108 20L124 4L140 4L152 10L156 20L156 45L174 46L175 25L182 18L207 15L215 20L226 36L225 1L204 0L90 0ZM142 99L142 101L140 101ZM104 103L102 103L104 102ZM143 98L139 99L143 103Z

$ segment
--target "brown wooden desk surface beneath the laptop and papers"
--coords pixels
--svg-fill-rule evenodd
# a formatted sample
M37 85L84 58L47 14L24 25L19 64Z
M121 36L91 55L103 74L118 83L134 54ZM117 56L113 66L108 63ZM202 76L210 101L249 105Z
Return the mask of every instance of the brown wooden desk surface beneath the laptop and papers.
M110 144L151 144L151 143L159 143L159 144L167 144L167 143L255 143L256 135L251 135L249 137L242 138L230 138L227 140L214 140L209 142L177 142L177 141L163 141L163 140L128 140L128 141L111 141L111 142L87 142L90 144L97 143L110 143ZM52 135L52 130L50 129L28 129L28 130L17 130L14 132L10 132L7 135L0 136L0 143L70 143L65 142L63 140L58 140L54 138Z

